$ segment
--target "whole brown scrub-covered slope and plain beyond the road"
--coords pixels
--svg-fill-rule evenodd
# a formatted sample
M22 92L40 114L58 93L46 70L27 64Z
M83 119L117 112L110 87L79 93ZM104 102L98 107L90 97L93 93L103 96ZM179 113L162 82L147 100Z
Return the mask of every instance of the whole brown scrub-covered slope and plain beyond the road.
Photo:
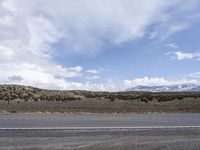
M57 91L0 85L0 112L200 112L200 93Z

